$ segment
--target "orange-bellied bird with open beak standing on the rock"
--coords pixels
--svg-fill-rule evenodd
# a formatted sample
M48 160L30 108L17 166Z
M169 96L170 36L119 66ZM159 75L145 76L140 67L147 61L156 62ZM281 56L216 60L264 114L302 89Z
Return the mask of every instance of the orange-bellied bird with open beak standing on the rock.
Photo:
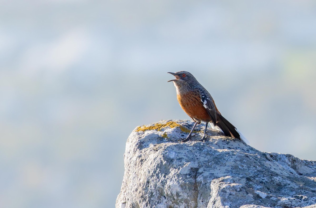
M210 93L190 72L180 71L168 73L175 77L175 79L169 80L168 82L173 82L181 108L195 122L189 135L183 139L182 142L191 140L191 135L196 125L201 124L203 121L206 122L204 136L198 141L205 142L207 126L209 123L212 123L215 127L219 127L225 136L240 139L246 144L249 144L248 140L240 131L222 116Z

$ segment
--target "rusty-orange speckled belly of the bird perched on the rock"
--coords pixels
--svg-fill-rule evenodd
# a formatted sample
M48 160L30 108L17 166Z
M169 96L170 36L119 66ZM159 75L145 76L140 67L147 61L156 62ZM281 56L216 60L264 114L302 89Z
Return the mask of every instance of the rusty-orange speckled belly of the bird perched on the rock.
M178 94L177 98L184 112L190 117L204 122L211 121L211 117L206 108L203 107L199 95L194 92L182 95Z

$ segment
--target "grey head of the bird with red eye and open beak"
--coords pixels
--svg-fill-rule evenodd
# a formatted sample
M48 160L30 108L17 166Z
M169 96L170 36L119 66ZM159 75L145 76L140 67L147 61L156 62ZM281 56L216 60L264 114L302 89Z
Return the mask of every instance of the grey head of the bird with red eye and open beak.
M175 79L169 80L168 82L173 81L174 86L180 91L188 91L191 89L195 89L200 86L200 83L197 81L197 79L190 73L186 71L180 71L180 72L168 72L169 74L172 74Z

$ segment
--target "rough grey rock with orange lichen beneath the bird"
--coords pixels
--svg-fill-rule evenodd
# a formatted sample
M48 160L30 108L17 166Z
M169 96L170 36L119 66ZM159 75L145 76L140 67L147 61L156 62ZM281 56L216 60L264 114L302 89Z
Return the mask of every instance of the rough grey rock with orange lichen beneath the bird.
M116 208L316 207L316 161L265 153L193 123L167 120L137 127L126 142ZM250 141L251 142L251 141Z

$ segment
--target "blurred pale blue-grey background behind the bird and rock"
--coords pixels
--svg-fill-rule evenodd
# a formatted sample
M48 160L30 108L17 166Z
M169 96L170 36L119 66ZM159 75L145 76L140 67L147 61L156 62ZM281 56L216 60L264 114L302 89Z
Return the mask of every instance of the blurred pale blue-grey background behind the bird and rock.
M260 151L316 160L316 2L1 1L0 207L114 207L191 72Z

